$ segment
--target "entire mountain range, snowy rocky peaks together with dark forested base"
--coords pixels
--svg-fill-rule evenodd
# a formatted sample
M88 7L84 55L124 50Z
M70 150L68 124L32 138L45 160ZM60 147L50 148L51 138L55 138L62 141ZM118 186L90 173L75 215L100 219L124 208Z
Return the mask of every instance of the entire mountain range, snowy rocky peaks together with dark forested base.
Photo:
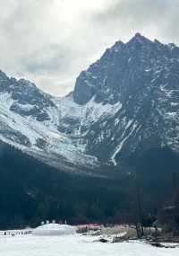
M178 182L179 48L118 41L61 99L1 71L0 142L2 227L130 219L139 186L157 212Z

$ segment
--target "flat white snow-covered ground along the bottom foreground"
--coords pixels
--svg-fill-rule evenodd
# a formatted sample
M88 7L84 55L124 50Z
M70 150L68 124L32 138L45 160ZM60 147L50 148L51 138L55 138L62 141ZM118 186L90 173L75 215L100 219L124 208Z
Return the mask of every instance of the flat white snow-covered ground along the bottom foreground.
M178 256L179 248L164 249L139 242L93 243L95 237L0 237L1 256Z

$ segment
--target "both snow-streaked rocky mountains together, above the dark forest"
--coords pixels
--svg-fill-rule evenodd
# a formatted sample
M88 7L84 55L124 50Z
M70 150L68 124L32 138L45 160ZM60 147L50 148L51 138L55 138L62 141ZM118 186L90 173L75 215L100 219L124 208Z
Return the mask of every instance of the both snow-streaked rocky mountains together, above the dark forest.
M54 165L116 165L153 147L178 153L179 48L139 33L118 41L62 99L1 72L0 139Z

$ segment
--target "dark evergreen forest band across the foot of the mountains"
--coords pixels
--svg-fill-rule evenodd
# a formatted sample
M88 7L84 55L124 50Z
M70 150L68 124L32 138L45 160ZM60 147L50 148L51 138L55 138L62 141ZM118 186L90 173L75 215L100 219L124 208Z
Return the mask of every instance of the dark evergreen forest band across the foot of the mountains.
M1 143L0 229L53 219L69 224L132 222L139 195L143 215L158 215L178 186L178 156L168 149L151 150L117 171L108 168L108 178L60 172Z

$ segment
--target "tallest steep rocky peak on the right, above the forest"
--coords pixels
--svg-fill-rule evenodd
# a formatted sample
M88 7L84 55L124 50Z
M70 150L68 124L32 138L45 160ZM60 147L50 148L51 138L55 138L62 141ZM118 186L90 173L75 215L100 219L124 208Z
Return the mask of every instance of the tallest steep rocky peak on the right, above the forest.
M77 78L72 104L84 113L75 119L69 111L65 131L78 129L86 152L115 164L117 155L151 147L178 152L178 96L179 48L138 33L126 44L116 42ZM90 121L94 109L98 118Z

